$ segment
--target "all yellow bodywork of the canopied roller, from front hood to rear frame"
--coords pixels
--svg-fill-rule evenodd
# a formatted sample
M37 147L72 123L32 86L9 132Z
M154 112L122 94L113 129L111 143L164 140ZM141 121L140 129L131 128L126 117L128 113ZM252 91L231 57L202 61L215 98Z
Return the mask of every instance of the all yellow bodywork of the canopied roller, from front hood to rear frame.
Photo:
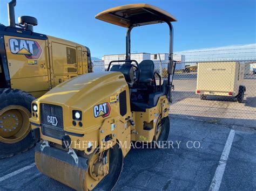
M122 105L122 107L126 107L127 112L122 116L120 115L120 93L124 91L126 100L121 101L126 103L125 105ZM98 131L105 121L118 127L124 127L121 130L114 128L112 132L110 131L111 134L117 135L117 138L115 139L118 139L118 142L124 142L125 140L152 142L154 127L156 126L159 116L164 118L169 114L169 102L167 101L166 96L161 96L157 105L146 109L145 112L131 111L129 88L123 74L118 72L97 72L78 76L53 88L33 103L38 106L43 103L62 107L63 128L66 134L69 135L69 132L71 132L77 133L77 135L83 135L82 137L70 135L72 148L84 151L86 154L90 154L92 151L87 152L82 144L75 144L75 142L77 143L79 140L91 142L97 141L96 145L99 145L100 140L102 140L100 137L103 136L104 138L107 136L106 132L103 133L103 135L100 135L100 137L98 136ZM109 116L95 117L94 107L103 103L109 105ZM36 114L37 116L41 116L40 108L41 107L38 107L37 112L33 112L33 116L36 116ZM73 125L73 110L82 111L82 127L79 126L78 123L76 123L75 126ZM131 127L129 123L130 119L133 119L136 125ZM38 124L41 124L40 117L32 117L30 121L32 123L32 129L36 128ZM145 123L147 126L152 126L152 130L143 130L143 125ZM131 134L131 132L134 134ZM42 133L42 130L40 137L43 140L48 140L59 145L62 144L60 139L45 136ZM127 151L124 150L123 153L126 155Z

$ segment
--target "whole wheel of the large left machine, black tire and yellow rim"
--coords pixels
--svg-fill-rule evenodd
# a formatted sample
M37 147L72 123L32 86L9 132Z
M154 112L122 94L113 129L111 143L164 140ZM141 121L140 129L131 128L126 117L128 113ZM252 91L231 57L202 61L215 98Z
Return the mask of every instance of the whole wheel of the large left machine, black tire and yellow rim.
M31 117L31 102L33 100L35 97L22 90L0 89L0 159L25 152L37 142L32 138L31 126L28 121ZM14 114L12 115L12 113ZM14 127L12 127L12 123L14 123ZM9 129L5 128L6 125ZM10 137L6 137L6 131L10 131ZM12 135L12 133L16 134Z

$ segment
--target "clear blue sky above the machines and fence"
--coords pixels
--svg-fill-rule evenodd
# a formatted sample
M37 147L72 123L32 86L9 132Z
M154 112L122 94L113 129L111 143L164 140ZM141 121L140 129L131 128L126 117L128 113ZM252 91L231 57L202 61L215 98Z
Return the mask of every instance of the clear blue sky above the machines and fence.
M0 23L8 25L7 3L0 2ZM38 19L35 32L68 39L88 46L92 56L125 52L123 27L95 19L98 12L114 6L149 3L178 19L174 26L174 52L187 49L256 43L254 0L17 0L18 16ZM142 26L132 31L132 52L168 52L166 24Z

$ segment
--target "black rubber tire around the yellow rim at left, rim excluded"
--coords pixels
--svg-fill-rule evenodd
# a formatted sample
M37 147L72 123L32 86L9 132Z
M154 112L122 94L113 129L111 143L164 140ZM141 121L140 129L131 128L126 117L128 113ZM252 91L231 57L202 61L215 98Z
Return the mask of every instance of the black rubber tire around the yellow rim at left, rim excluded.
M32 95L18 89L0 89L0 110L9 105L19 105L31 112L31 102L35 100ZM0 142L0 159L12 157L15 154L22 153L33 147L37 140L28 135L17 143L9 144Z

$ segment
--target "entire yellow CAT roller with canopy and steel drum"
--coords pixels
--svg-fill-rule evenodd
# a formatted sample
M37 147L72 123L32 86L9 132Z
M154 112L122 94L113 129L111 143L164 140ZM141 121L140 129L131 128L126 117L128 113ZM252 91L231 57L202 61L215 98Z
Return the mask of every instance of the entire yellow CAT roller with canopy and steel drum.
M131 143L159 146L170 129L175 67L171 22L176 18L149 4L118 6L96 18L127 28L126 59L111 61L106 72L59 84L32 102L30 119L33 137L41 139L35 153L37 168L77 190L111 190ZM159 81L152 60L130 59L131 30L156 23L170 28L168 76Z

